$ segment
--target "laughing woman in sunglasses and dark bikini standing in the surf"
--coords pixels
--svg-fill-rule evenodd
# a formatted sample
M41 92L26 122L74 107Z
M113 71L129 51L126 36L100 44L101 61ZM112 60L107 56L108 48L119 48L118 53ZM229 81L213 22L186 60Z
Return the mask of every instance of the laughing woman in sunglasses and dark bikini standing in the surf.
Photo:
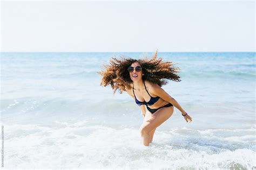
M110 66L105 65L106 70L97 72L103 76L100 86L110 84L114 93L117 89L119 93L126 91L142 109L144 122L140 126L140 134L145 146L152 142L156 128L172 116L173 106L181 111L186 122L192 121L179 103L161 88L167 83L161 79L181 81L175 74L179 72L179 68L174 67L172 62L156 58L157 52L150 60L112 58Z

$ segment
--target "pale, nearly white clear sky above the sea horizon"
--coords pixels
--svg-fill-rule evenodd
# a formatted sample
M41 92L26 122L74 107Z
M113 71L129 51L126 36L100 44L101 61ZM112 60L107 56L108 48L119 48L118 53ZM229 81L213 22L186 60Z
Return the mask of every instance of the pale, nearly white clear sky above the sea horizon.
M254 52L254 1L1 1L1 52Z

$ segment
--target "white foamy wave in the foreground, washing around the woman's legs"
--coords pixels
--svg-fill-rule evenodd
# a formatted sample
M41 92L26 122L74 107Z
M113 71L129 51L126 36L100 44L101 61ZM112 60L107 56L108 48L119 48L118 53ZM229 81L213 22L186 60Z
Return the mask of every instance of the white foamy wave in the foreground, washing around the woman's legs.
M4 130L5 143L12 146L5 151L6 168L252 169L256 166L255 141L227 141L208 133L211 130L157 130L148 147L142 145L137 128L90 125L87 121L72 124L56 121L49 126L4 125ZM230 134L235 136L239 130L234 129Z

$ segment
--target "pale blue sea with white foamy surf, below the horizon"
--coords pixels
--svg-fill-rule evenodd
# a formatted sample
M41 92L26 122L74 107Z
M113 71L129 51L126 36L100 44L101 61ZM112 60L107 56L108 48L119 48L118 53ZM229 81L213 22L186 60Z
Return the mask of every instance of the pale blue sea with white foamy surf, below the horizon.
M154 53L1 53L5 168L256 168L255 53L158 53L179 67L162 88L175 108L141 143L141 110L99 86L111 57Z

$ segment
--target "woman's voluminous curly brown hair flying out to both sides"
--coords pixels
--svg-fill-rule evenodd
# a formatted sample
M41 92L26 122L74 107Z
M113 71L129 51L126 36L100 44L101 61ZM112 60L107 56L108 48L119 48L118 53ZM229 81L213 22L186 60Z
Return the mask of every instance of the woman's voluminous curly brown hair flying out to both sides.
M130 78L130 74L127 70L129 66L132 65L133 62L139 62L142 66L142 71L144 73L142 79L150 81L152 83L158 84L160 87L167 84L166 80L161 79L169 79L176 82L181 81L180 76L176 73L179 73L180 68L174 67L171 61L163 61L163 58L157 59L158 52L153 55L152 59L132 59L132 58L124 58L118 60L117 58L110 59L110 65L103 65L105 70L102 72L97 72L102 75L102 81L100 82L100 86L106 87L110 84L113 93L119 89L119 93L122 94L126 89L131 89L132 80Z

